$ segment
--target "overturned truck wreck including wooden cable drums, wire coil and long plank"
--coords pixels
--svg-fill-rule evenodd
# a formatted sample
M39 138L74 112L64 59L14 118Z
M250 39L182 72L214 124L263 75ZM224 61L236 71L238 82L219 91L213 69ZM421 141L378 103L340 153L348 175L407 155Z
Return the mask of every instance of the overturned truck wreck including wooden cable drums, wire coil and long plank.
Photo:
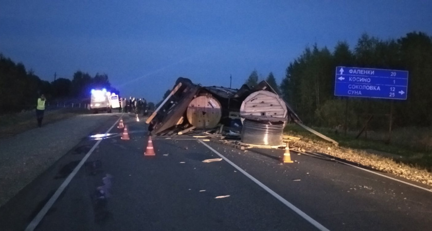
M203 87L178 78L173 89L146 121L154 135L183 134L193 129L241 134L245 143L277 145L286 123L294 122L317 136L338 143L305 126L292 107L266 82L249 88Z

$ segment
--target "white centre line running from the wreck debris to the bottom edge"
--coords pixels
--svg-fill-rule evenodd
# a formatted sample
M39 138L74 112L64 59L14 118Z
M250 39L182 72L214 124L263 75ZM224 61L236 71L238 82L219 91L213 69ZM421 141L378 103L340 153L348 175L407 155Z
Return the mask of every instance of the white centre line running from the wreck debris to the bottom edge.
M235 167L237 170L239 170L242 174L244 174L246 177L248 177L250 180L252 180L253 182L255 182L256 184L258 184L259 186L261 186L264 190L266 190L269 194L271 194L272 196L274 196L276 199L278 199L280 202L282 202L284 205L286 205L287 207L291 208L296 214L300 215L303 219L307 220L309 223L311 223L313 226L315 226L316 228L318 228L319 230L329 230L326 227L324 227L323 225L321 225L320 223L318 223L317 221L315 221L313 218L309 217L307 214L303 213L303 211L301 211L300 209L298 209L296 206L294 206L293 204L291 204L290 202L288 202L287 200L285 200L284 198L282 198L281 196L279 196L275 191L273 191L272 189L270 189L269 187L265 186L263 183L261 183L260 181L258 181L257 179L255 179L253 176L250 176L250 174L248 174L245 170L241 169L239 166L237 166L235 163L232 163L230 160L228 160L226 157L222 156L221 153L219 153L217 150L214 150L212 147L210 147L209 145L207 145L206 143L204 143L203 141L200 140L200 142L202 144L204 144L204 146L206 146L208 149L212 150L214 153L216 153L218 156L220 156L222 159L224 159L226 162L228 162L230 165L232 165L233 167Z

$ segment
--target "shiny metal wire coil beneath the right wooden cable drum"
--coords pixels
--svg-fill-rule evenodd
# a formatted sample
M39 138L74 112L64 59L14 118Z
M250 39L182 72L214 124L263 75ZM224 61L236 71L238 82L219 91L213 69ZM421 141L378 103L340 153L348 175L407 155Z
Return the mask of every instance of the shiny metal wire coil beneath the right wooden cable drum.
M242 142L277 146L282 142L283 121L243 121Z

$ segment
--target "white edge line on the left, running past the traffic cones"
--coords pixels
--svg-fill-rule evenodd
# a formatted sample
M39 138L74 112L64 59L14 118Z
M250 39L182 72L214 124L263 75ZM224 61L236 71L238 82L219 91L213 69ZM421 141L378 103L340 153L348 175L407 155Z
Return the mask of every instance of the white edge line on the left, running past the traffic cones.
M105 134L109 133L111 131L111 129L113 129L113 127L118 123L118 121L121 119L121 117L123 117L123 114L120 115L120 118L118 118L118 120L113 124L113 126L110 127L110 129L108 129L105 132ZM63 190L67 187L67 185L70 183L72 178L75 177L75 175L80 170L80 168L82 167L84 162L88 159L88 157L90 155L92 155L92 152L95 150L95 148L99 145L99 143L101 141L102 140L98 140L96 142L96 144L93 145L92 149L90 149L87 152L87 154L84 156L84 158L81 160L81 162L75 167L75 169L69 174L69 176L67 176L66 180L64 180L64 182L60 185L60 187L57 189L57 191L54 193L54 195L52 195L52 197L48 200L48 202L46 202L45 206L39 211L38 215L36 215L36 217L34 217L33 220L30 222L30 224L28 224L27 228L25 229L26 231L33 231L36 228L36 226L38 226L38 224L45 217L48 210L52 207L52 205L60 197Z

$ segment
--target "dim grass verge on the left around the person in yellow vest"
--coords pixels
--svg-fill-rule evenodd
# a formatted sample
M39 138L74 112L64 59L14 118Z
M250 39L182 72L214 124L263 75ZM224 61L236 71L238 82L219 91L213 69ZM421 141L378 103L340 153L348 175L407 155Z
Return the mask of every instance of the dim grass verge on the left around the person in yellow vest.
M55 123L60 120L74 117L77 114L88 114L84 108L62 108L45 111L42 126ZM34 110L0 115L0 139L15 136L16 134L38 127Z

